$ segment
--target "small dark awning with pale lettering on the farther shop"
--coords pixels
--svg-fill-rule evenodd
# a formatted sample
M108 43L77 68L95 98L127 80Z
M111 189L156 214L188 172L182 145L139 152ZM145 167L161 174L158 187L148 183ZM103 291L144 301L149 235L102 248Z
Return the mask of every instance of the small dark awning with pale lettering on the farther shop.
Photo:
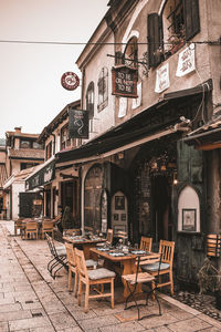
M55 177L55 157L52 156L25 179L25 190L32 190L36 187L51 183Z

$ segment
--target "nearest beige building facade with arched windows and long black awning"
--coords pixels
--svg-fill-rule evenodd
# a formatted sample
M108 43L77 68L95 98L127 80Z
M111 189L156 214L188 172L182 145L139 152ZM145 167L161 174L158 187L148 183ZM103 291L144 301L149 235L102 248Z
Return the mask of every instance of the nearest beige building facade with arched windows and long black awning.
M221 230L220 154L185 137L221 112L221 3L108 7L76 61L90 137L59 153L56 167L78 170L82 227L151 236L155 247L175 240L177 279L196 283L206 236Z

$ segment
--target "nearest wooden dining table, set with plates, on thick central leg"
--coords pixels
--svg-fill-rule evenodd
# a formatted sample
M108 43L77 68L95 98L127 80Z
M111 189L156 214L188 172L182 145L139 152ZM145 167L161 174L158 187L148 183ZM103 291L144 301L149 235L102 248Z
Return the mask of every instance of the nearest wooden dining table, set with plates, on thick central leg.
M136 259L138 256L148 256L148 263L151 263L151 261L156 261L159 259L159 253L158 252L150 252L150 251L145 251L145 250L139 250L139 249L119 249L119 248L108 248L108 247L103 247L97 246L95 248L90 249L91 252L97 258L103 258L107 261L110 261L112 263L120 264L122 269L119 269L120 276L125 274L133 274L136 273ZM125 251L125 252L124 252ZM129 290L127 288L126 281L122 278L122 282L124 284L124 290L123 290L123 297L119 300L119 302L124 302L127 297L129 295ZM141 287L137 287L136 292L141 293Z

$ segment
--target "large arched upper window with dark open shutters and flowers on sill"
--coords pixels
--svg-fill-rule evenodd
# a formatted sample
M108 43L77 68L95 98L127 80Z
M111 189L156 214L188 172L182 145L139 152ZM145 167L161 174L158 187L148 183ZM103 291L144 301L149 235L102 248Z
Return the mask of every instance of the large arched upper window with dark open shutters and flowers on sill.
M167 0L147 25L149 66L156 66L200 31L199 0Z

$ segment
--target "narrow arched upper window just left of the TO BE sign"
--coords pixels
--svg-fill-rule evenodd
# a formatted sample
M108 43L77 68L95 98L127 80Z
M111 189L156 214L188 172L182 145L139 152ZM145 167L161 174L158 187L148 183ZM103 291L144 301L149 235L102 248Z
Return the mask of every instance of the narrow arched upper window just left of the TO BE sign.
M108 103L108 70L103 68L98 77L98 105L97 110L101 112Z

